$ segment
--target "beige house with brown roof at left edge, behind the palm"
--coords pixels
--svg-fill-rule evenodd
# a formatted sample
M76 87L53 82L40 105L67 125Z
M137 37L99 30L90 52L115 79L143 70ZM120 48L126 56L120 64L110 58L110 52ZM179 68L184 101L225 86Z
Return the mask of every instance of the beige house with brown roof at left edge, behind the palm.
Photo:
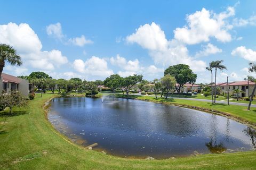
M10 94L11 91L20 91L24 97L28 97L28 94L29 94L28 80L2 73L1 80L0 80L0 93Z

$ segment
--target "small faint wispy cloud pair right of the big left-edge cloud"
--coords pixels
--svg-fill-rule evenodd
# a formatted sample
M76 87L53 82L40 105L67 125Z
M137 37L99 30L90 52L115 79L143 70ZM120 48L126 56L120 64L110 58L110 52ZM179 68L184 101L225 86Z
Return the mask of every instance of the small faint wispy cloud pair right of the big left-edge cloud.
M86 39L84 35L82 35L81 37L69 38L68 40L66 40L66 35L63 35L61 24L59 22L46 26L46 33L47 35L62 41L64 44L73 44L75 46L83 47L86 44L93 43L92 40Z

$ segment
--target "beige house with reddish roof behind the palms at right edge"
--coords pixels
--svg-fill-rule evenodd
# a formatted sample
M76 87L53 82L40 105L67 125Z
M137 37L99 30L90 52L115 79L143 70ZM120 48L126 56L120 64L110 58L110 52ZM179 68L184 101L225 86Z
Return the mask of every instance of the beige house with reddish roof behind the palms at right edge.
M249 97L252 95L252 91L254 88L255 82L253 81L234 81L230 82L227 86L227 82L218 83L216 87L220 87L221 92L227 93L229 89L229 93L232 94L235 89L242 90L244 92L239 93L239 97ZM255 94L253 95L255 96Z

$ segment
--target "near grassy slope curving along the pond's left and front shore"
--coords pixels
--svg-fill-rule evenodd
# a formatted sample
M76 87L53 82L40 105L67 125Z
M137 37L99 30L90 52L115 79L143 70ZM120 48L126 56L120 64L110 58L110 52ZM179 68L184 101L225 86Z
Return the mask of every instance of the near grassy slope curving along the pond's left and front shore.
M52 95L0 117L0 169L254 169L256 152L170 160L124 159L86 150L52 128L42 106ZM3 114L3 113L2 113Z

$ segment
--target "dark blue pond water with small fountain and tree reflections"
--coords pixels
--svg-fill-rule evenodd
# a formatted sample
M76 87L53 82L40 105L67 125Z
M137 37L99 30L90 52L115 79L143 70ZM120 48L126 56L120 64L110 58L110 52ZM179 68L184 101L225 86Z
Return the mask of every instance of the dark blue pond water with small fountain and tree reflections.
M156 159L255 150L254 129L229 118L147 101L54 98L50 122L73 141L121 157Z

